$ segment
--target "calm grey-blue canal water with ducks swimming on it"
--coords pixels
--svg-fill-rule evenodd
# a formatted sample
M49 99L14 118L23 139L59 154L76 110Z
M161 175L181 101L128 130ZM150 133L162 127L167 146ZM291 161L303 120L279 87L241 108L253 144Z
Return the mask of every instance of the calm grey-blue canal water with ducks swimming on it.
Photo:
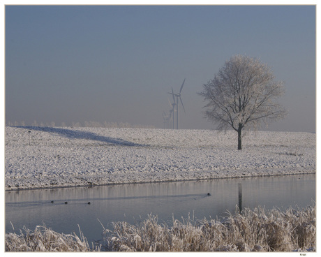
M314 202L315 175L7 191L6 233L45 223L58 233L79 236L79 225L91 245L103 237L100 222L111 229L112 222L135 223L153 214L170 226L173 216L216 219L227 211L234 214L237 206L284 210Z

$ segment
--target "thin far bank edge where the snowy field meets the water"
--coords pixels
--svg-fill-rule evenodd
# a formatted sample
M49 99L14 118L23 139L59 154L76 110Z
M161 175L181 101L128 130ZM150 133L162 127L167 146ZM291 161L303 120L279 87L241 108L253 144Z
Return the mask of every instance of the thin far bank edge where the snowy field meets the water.
M274 170L274 169L269 169ZM301 171L300 171L301 170ZM304 171L302 171L304 170ZM204 170L205 171L205 170ZM203 172L204 172L203 171ZM212 170L206 170L206 172L211 172ZM214 170L213 170L214 171ZM252 170L253 171L253 170ZM290 170L289 170L290 171ZM202 172L202 170L195 170L195 172ZM290 175L308 175L316 174L316 168L299 168L298 171L285 172L282 174L274 174L273 172L268 174L251 174L251 175L227 175L227 176L216 176L216 177L193 177L193 178L182 178L182 179L163 179L163 180L147 180L147 181L131 181L131 182L108 182L102 184L94 184L87 182L87 184L70 184L70 185L58 185L58 186L35 186L26 188L15 188L8 189L6 186L5 191L26 191L26 190L39 190L39 189L66 189L66 188L76 188L76 187L93 187L93 186L114 186L114 185L124 185L124 184L152 184L152 183L170 183L170 182L189 182L189 181L202 181L211 179L244 179L251 177L280 177L280 176L290 176Z

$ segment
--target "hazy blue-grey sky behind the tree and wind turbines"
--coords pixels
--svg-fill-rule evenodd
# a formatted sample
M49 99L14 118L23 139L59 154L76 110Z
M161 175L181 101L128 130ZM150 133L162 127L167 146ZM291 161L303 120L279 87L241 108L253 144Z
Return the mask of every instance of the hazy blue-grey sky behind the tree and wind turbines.
M196 93L235 54L285 82L288 117L315 132L315 6L6 6L6 120L163 128L184 78L181 129L214 129Z

